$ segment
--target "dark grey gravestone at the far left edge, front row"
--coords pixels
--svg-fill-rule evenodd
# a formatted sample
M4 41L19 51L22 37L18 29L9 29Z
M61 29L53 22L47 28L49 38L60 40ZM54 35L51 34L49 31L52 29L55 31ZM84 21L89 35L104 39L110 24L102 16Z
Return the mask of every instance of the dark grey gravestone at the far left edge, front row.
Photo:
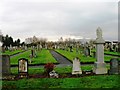
M0 63L2 64L2 75L9 75L10 72L10 56L0 55Z

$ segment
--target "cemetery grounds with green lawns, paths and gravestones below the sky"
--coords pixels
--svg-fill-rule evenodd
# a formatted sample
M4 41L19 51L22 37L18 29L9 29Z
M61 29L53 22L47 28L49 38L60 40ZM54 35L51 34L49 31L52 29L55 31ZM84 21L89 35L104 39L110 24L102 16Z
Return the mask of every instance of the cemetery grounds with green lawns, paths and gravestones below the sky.
M101 28L96 34L91 46L60 41L2 47L2 88L119 88L120 51L106 48Z

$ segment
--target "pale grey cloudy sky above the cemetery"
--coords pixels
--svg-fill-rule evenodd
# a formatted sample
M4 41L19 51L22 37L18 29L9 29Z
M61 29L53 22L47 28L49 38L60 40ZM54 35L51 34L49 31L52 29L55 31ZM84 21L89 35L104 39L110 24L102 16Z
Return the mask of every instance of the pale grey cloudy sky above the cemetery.
M28 37L118 39L117 0L0 0L0 30L22 41Z

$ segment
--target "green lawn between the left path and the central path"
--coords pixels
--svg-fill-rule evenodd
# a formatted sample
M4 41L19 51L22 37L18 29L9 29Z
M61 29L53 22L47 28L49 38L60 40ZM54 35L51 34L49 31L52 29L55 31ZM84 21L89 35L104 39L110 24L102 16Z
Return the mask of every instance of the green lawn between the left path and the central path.
M30 54L31 51L26 51L24 53L21 53L17 56L14 56L11 58L11 64L18 64L18 59L20 58L26 58L28 60L30 60ZM32 59L32 63L31 64L46 64L48 62L51 63L57 63L57 61L54 59L54 57L50 54L49 50L45 50L42 49L41 51L37 51L37 57Z

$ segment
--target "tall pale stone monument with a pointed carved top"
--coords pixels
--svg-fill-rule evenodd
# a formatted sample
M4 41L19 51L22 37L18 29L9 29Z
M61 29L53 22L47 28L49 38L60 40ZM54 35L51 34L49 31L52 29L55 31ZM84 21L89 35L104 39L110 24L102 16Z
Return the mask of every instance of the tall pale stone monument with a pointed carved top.
M107 68L106 64L104 63L104 39L102 37L102 30L99 27L96 30L97 33L97 38L95 41L96 44L96 59L97 62L94 64L93 72L95 74L106 74L107 73Z

